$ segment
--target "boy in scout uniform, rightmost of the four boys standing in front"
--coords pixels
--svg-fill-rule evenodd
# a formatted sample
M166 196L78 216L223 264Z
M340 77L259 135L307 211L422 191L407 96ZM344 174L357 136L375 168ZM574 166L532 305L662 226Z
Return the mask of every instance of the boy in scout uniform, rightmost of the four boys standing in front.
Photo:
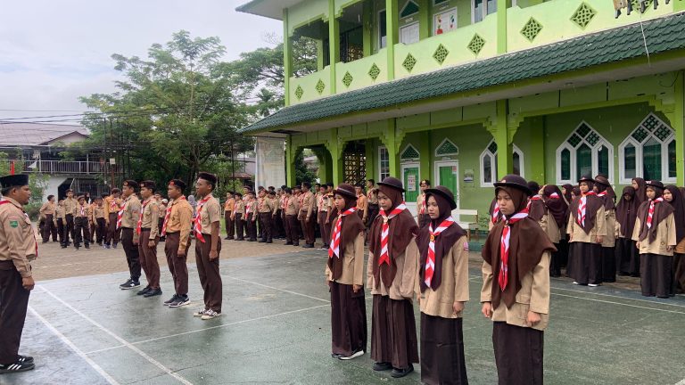
M206 172L198 173L197 176L195 191L201 200L198 202L195 217L195 264L204 291L204 307L194 316L210 320L221 315L221 205L211 195L217 185L217 176ZM264 231L267 231L267 228Z

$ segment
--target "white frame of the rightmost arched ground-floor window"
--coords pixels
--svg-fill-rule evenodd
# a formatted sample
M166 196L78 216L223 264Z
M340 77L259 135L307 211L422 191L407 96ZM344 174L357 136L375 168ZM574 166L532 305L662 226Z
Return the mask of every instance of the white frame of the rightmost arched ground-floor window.
M632 133L634 133L637 129L642 127L642 124L649 119L650 117L654 117L654 119L658 120L659 123L663 124L665 127L668 127L671 129L671 135L668 135L663 141L660 140L654 133L649 132L649 135L647 135L643 140L642 143L638 143L633 137ZM676 183L676 178L674 177L668 177L668 144L671 143L671 141L675 140L675 130L673 127L669 126L664 122L664 120L659 119L655 114L649 113L645 119L642 119L640 121L640 124L635 127L630 134L623 140L623 142L618 146L618 176L619 176L619 183L620 184L631 184L632 178L629 178L625 176L625 147L628 146L628 144L632 144L635 146L635 176L636 177L642 177L644 176L644 163L643 163L643 149L642 146L644 143L647 143L649 141L649 138L654 138L656 142L661 143L661 177L662 177L662 182L664 184L674 184ZM677 167L677 166L676 166Z

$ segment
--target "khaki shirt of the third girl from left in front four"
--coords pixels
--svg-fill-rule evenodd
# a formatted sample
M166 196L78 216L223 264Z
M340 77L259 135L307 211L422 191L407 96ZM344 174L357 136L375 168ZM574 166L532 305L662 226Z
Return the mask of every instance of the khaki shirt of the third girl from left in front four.
M449 252L442 256L442 282L433 291L426 288L421 292L420 279L417 274L415 291L421 298L421 312L426 315L442 318L461 318L463 311L454 313L452 305L455 302L466 302L468 296L468 248L466 236L462 236L452 246ZM417 249L417 252L419 250ZM420 271L421 259L417 256L417 273Z

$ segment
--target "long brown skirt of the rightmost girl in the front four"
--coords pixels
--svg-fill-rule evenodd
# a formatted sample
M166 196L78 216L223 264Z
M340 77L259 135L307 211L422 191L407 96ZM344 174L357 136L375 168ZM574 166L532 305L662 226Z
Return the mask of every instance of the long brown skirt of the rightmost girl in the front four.
M532 328L495 322L492 346L499 385L542 384L544 333Z

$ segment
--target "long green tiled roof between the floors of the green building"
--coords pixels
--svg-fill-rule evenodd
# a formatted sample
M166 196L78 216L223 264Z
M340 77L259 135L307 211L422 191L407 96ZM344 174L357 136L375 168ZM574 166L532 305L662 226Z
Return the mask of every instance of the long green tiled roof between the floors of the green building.
M651 55L685 48L685 13L295 104L243 127L239 132L273 131L318 119L644 57L646 45Z

